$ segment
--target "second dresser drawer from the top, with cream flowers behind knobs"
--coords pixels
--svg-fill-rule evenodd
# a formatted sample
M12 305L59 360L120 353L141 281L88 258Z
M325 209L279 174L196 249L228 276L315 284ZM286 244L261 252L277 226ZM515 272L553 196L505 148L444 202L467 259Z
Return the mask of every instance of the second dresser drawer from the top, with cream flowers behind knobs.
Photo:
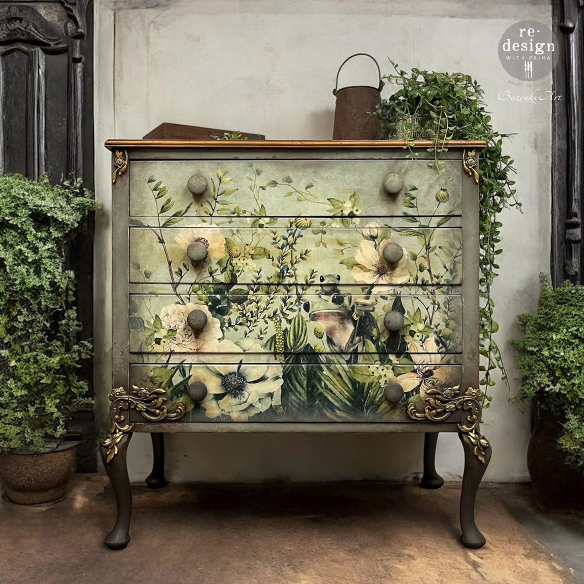
M331 274L339 284L459 284L462 229L363 227L130 228L130 282L314 284ZM301 227L297 227L301 225ZM200 256L189 258L193 249ZM385 255L394 254L388 262ZM397 255L396 255L397 254Z

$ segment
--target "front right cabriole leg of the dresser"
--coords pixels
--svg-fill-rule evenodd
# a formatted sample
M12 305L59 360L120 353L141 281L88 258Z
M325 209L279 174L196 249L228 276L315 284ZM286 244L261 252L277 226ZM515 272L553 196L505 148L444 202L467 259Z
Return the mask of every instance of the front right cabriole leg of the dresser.
M481 434L473 434L476 437L484 439ZM477 498L478 485L482 476L485 474L486 467L491 460L491 444L483 444L480 454L484 455L484 462L475 454L476 443L467 432L458 432L458 437L463 443L464 448L464 475L463 489L460 494L460 528L463 534L460 536L464 547L479 548L485 545L486 540L483 534L478 530L474 519L475 499ZM486 441L485 441L486 443Z

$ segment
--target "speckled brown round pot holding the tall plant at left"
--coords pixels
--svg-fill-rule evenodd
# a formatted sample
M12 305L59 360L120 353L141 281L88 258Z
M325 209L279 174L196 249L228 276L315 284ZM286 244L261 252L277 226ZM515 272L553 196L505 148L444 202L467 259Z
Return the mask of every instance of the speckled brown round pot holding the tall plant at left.
M51 505L63 500L75 471L77 444L65 442L47 453L0 455L0 478L8 499L19 505Z

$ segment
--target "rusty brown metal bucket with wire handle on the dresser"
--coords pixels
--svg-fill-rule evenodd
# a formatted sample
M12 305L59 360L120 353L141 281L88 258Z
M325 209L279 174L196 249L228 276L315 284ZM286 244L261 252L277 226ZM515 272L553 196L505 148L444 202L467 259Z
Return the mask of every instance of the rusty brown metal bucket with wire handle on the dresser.
M349 59L364 55L373 59L377 65L379 74L379 85L350 85L339 87L340 69ZM381 120L373 112L381 102L381 69L378 62L367 53L355 53L346 58L336 72L335 89L332 94L336 97L335 126L333 127L333 140L381 140L383 138L383 127Z

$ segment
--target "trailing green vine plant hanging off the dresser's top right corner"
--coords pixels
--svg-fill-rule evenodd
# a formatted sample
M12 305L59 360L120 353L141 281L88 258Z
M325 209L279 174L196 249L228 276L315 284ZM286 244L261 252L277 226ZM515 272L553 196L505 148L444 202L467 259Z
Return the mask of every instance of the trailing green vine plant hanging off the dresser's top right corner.
M480 294L481 294L481 346L484 357L481 364L480 383L484 388L484 406L488 407L491 396L487 395L489 387L495 385L492 371L499 369L502 379L507 381L505 364L499 347L493 337L499 329L495 321L495 302L491 288L498 276L497 256L500 248L499 213L507 207L520 208L516 199L515 173L513 160L503 153L503 140L509 134L495 131L491 116L486 111L481 86L462 73L420 71L413 68L410 73L398 69L391 61L395 74L384 77L390 84L399 86L397 92L388 99L383 99L375 112L383 122L385 137L394 138L400 124L413 124L421 128L432 140L429 151L434 160L428 163L436 172L446 173L446 163L440 155L448 149L446 140L484 140L486 148L481 150L479 169L480 192ZM411 129L411 128L410 128ZM405 128L406 134L408 128ZM411 136L410 136L411 137ZM410 138L408 137L408 139ZM409 142L411 144L411 142ZM407 148L407 146L406 146ZM418 153L410 152L411 157Z

